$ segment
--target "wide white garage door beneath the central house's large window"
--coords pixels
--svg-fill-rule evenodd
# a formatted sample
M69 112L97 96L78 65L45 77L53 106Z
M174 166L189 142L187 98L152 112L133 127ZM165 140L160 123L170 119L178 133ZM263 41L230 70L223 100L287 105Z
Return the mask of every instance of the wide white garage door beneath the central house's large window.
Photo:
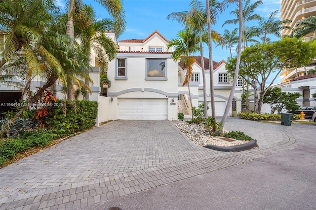
M118 99L120 120L166 120L167 99Z

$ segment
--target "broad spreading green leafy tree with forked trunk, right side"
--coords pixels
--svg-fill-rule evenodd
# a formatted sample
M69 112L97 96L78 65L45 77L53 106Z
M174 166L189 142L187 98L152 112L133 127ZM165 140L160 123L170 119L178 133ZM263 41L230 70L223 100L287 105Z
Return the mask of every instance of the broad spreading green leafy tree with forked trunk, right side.
M255 112L260 113L264 95L283 68L309 64L316 56L316 42L283 37L279 41L255 44L241 52L240 77L254 89ZM226 69L234 75L236 58L229 59ZM269 85L267 79L275 72Z

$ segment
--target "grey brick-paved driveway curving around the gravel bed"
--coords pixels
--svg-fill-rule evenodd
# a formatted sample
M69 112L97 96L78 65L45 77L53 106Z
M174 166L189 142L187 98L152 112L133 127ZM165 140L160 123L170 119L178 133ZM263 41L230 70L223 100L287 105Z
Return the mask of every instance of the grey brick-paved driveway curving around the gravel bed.
M2 168L0 209L93 209L125 195L293 149L302 142L297 131L306 128L304 134L315 137L316 128L229 117L226 130L243 131L260 146L234 153L197 146L173 124L113 121Z

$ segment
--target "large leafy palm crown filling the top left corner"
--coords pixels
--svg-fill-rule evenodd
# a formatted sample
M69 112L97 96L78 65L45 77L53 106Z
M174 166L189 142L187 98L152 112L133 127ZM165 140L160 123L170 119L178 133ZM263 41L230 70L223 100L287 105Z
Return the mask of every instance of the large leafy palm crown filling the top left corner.
M27 70L25 80L30 81L38 74L46 76L46 84L33 97L35 101L56 79L65 81L60 62L49 50L49 46L55 45L57 49L67 45L63 35L49 35L49 27L54 22L49 10L52 5L51 0L4 0L0 3L0 31L6 38L0 55L1 66L7 62L12 65L23 57Z

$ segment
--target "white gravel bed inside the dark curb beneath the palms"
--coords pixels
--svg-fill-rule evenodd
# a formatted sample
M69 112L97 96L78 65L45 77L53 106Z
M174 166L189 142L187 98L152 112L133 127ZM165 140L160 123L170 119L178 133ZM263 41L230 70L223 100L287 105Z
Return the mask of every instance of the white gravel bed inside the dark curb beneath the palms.
M202 124L197 125L195 123L179 123L174 125L177 126L180 131L182 131L189 138L189 140L200 146L205 146L208 144L217 146L235 146L249 142L247 140L219 140L218 138L220 137L211 136L208 131L204 129Z

